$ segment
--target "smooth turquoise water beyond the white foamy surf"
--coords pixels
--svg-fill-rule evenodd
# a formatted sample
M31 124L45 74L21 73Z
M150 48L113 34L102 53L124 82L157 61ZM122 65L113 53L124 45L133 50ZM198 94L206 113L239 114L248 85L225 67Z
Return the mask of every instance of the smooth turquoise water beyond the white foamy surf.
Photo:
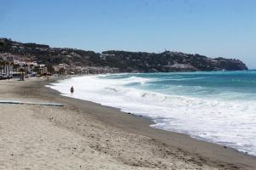
M147 83L131 82L127 87L147 89L160 94L200 98L256 99L256 71L218 71L184 73L125 74L103 77L148 78Z

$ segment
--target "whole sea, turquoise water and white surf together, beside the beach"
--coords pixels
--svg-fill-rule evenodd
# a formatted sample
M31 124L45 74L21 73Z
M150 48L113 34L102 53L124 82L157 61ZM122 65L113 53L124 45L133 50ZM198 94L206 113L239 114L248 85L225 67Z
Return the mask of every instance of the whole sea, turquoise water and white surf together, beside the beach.
M64 96L149 117L151 127L256 156L256 71L82 76L49 87Z

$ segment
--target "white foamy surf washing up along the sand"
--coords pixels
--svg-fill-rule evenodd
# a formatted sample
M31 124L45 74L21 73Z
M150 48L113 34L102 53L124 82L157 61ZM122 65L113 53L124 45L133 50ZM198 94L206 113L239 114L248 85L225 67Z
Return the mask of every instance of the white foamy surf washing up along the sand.
M73 77L52 84L62 95L90 100L121 111L153 118L157 127L228 145L256 156L256 103L244 100L201 99L128 88L148 78ZM69 94L73 86L75 93Z

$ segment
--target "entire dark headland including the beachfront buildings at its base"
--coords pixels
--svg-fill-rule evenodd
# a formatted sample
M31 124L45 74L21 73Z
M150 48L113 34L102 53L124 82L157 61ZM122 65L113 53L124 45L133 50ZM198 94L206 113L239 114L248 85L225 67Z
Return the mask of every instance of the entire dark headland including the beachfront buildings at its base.
M209 58L200 54L128 52L102 53L76 48L51 48L38 43L0 38L0 78L47 75L88 75L120 72L247 70L239 59Z

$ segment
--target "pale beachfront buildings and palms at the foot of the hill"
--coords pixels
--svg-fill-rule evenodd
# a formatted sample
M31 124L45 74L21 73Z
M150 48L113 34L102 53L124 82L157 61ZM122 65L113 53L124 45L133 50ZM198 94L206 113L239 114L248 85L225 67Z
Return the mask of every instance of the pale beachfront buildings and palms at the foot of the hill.
M20 78L25 77L42 77L52 75L89 75L116 73L119 69L109 67L94 67L94 66L78 66L67 65L65 63L57 65L39 64L37 61L30 58L24 58L15 54L3 53L0 54L0 79Z

